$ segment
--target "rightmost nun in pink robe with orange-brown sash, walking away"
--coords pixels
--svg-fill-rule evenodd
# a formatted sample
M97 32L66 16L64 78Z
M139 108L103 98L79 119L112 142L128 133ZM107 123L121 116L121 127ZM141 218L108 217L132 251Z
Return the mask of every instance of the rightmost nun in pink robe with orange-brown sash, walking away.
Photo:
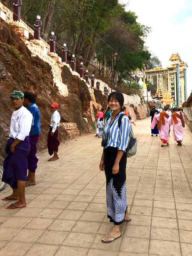
M178 146L182 146L183 140L183 128L185 127L184 114L178 111L177 107L174 107L174 113L171 115L170 124L173 126L174 140L177 141Z

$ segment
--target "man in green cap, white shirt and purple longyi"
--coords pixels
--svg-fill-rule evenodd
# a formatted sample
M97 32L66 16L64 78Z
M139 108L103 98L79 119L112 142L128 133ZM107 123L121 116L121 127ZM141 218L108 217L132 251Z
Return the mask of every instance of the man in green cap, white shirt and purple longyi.
M15 200L17 202L6 206L6 209L25 208L25 180L27 175L27 156L30 152L29 133L33 116L24 106L24 94L22 91L13 91L11 105L14 109L9 140L5 152L8 156L3 161L2 181L8 183L13 193L2 198L3 201Z

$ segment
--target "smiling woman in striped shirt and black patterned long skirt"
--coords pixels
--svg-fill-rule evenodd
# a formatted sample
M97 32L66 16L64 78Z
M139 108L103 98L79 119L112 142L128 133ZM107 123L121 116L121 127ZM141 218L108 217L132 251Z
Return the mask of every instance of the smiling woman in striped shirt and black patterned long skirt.
M105 171L107 214L113 222L112 230L104 236L102 243L111 243L121 237L121 224L130 221L126 199L126 148L131 125L126 115L122 116L119 127L119 116L124 114L122 93L113 91L108 97L108 103L113 111L107 120L103 133L103 154L99 169Z

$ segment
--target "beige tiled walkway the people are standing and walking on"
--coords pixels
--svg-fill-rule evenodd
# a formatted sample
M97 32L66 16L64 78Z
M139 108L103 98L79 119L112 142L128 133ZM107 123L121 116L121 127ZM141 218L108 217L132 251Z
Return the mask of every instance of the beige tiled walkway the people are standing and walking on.
M132 221L122 225L121 239L101 243L112 224L98 168L101 139L88 135L62 145L58 161L40 158L25 209L7 210L0 202L0 255L191 256L192 136L185 128L184 146L171 134L170 146L161 148L149 126L150 118L134 126L138 153L127 164Z

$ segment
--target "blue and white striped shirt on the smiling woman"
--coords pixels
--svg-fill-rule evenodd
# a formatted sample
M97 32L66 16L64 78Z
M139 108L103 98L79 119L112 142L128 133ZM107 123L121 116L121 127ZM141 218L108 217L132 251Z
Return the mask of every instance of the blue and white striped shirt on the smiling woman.
M124 114L124 112L120 112L111 124L112 114L113 113L111 113L103 132L103 139L106 139L108 134L108 145L104 148L114 147L118 148L118 150L126 151L129 142L129 132L131 130L129 118L126 115L122 116L121 126L119 129L118 119L121 114Z

